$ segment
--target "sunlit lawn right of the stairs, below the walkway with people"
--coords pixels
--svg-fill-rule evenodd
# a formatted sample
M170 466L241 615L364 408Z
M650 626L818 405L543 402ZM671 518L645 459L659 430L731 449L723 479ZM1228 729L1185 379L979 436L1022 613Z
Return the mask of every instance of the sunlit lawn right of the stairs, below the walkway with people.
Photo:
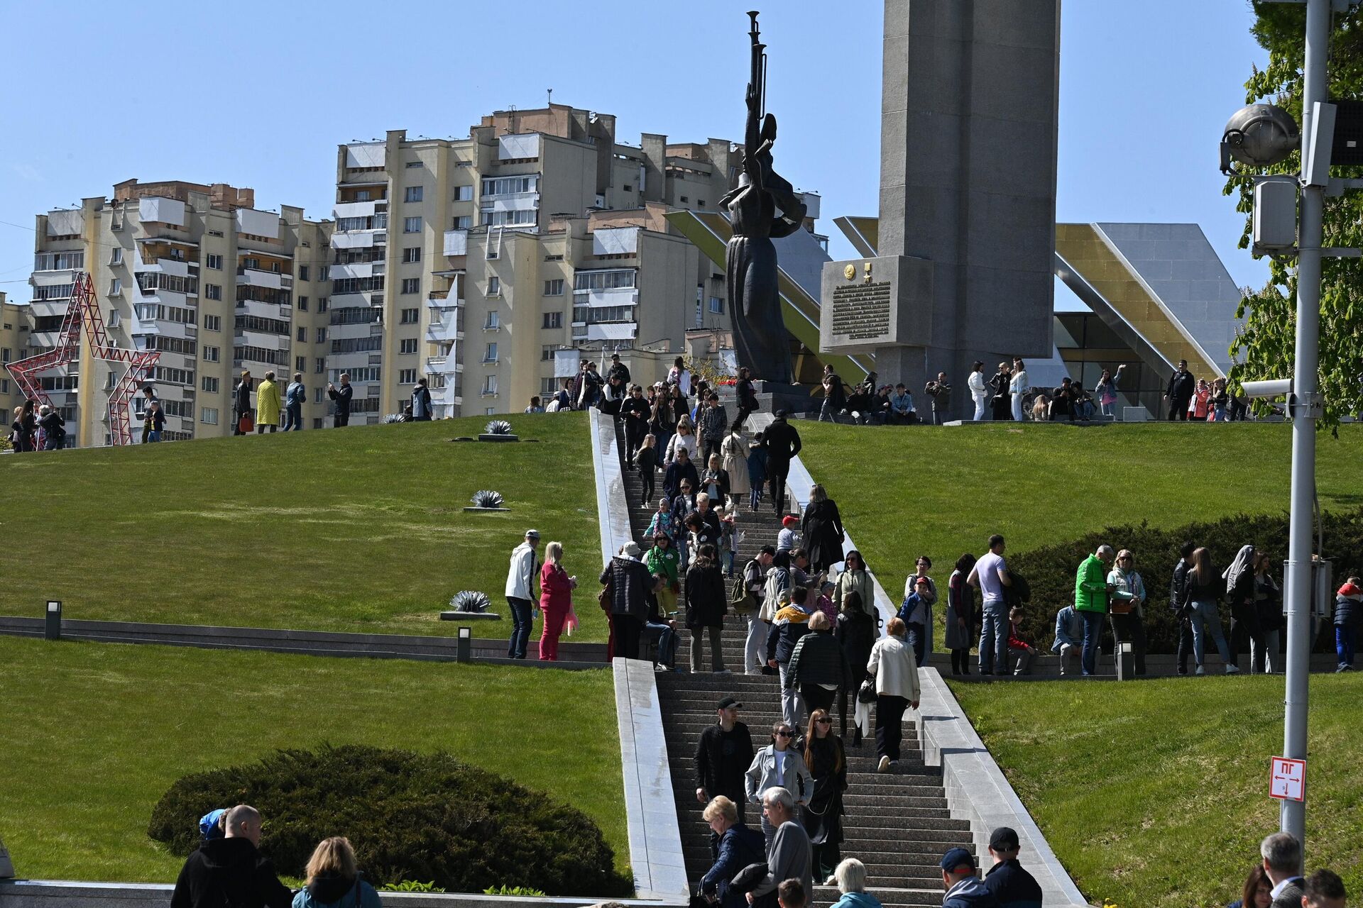
M1278 828L1283 678L951 683L1079 889L1122 908L1220 908ZM1363 678L1311 677L1306 852L1363 892ZM1026 855L1022 855L1026 863Z

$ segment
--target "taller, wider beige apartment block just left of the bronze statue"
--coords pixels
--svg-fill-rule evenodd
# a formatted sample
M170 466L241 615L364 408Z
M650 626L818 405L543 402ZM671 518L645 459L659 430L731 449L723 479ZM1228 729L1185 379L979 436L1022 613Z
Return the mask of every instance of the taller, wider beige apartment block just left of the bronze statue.
M688 328L729 327L724 275L662 214L718 210L741 152L615 133L551 105L338 147L327 377L350 373L352 422L423 376L438 417L518 412L583 350L680 354Z

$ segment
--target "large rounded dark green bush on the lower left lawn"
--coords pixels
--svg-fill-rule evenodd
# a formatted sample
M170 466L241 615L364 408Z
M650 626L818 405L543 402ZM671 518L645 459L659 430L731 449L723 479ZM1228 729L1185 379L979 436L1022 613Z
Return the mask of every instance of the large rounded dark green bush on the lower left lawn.
M305 875L319 841L345 836L376 886L418 879L450 892L632 892L582 811L447 753L323 746L185 776L151 811L149 834L188 855L199 844L199 817L237 803L260 810L262 851L290 877Z

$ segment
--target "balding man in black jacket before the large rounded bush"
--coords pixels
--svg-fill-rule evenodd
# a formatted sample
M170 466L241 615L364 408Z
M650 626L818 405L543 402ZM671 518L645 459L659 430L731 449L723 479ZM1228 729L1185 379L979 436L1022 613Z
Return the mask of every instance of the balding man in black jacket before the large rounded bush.
M290 908L293 893L260 855L260 813L237 805L228 811L226 836L189 855L176 879L170 908Z

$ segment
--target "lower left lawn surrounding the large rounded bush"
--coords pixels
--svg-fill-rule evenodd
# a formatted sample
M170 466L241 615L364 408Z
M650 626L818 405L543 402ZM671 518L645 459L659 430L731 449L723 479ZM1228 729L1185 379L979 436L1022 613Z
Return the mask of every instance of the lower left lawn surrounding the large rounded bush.
M0 839L20 877L174 882L183 859L147 822L176 779L323 742L447 750L583 810L628 866L605 668L0 637Z

